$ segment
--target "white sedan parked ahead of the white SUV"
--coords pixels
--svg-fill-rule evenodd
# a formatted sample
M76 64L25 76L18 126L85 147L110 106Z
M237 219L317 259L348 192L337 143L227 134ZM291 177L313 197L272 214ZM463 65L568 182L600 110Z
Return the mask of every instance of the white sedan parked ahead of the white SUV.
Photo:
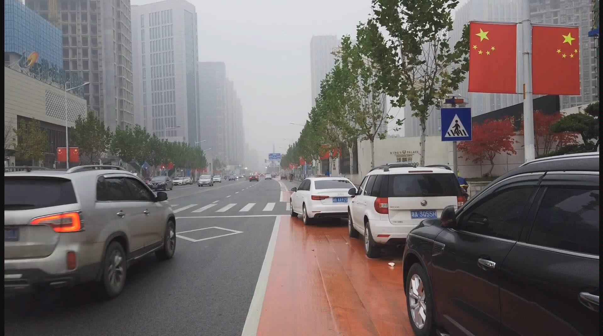
M347 178L306 178L289 200L291 217L301 214L305 225L315 218L347 218L348 191L356 188Z

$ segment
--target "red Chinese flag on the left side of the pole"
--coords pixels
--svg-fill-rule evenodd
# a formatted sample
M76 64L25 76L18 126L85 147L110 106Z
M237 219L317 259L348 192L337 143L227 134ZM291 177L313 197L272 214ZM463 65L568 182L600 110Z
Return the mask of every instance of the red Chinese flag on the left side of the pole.
M469 92L517 93L517 25L469 25Z

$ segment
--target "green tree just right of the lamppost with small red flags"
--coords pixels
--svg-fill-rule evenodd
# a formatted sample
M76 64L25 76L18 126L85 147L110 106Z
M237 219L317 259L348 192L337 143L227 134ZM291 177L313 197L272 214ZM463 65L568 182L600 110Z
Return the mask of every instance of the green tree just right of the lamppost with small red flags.
M96 117L95 111L88 110L86 115L75 120L75 128L69 131L69 142L80 149L86 161L92 163L107 151L111 136L111 130Z

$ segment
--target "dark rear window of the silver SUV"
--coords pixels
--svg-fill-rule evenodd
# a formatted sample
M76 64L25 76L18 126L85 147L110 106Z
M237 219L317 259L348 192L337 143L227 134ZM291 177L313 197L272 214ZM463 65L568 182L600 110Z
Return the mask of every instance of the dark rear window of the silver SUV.
M29 210L77 203L69 179L4 176L4 210Z

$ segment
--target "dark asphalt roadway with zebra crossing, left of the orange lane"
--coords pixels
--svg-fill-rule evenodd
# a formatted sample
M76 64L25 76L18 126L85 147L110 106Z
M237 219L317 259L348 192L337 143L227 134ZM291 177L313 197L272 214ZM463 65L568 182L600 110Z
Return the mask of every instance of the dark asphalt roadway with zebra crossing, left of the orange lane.
M4 334L241 335L276 215L288 214L280 184L224 181L167 193L177 216L174 258L135 264L109 301L84 286L5 298Z

